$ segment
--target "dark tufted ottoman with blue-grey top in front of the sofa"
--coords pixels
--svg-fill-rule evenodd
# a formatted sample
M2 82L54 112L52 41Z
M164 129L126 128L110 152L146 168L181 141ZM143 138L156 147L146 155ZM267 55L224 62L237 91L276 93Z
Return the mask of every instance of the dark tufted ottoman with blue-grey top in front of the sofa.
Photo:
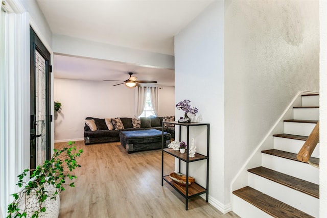
M121 131L119 136L121 138L122 146L128 153L136 151L145 151L153 149L161 149L161 135L162 132L156 129L149 130L131 130ZM167 148L170 143L171 135L164 132L164 148Z

